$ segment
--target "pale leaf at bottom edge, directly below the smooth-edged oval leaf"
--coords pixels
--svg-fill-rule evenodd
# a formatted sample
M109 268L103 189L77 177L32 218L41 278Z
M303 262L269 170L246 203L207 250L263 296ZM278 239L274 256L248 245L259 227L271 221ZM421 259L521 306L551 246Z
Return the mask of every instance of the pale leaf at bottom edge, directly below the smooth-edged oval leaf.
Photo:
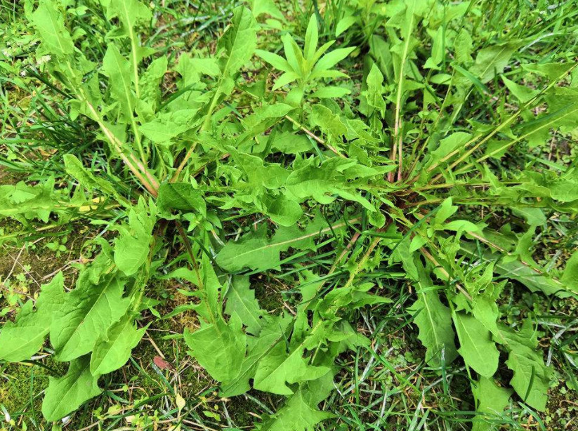
M484 419L499 418L508 406L513 390L499 387L492 378L480 377L478 382L472 382L472 392L478 404L476 411L480 413L472 420L472 431L497 431L498 424L494 425Z

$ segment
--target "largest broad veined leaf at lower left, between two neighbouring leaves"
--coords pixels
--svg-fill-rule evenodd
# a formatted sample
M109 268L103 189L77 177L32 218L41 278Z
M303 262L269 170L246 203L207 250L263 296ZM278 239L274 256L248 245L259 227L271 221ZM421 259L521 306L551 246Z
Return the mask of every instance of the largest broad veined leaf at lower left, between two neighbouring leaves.
M51 324L50 341L58 361L70 361L91 352L96 340L105 336L129 307L129 298L122 298L125 279L112 273L93 284L89 278L90 273L85 270L77 288L65 295Z

